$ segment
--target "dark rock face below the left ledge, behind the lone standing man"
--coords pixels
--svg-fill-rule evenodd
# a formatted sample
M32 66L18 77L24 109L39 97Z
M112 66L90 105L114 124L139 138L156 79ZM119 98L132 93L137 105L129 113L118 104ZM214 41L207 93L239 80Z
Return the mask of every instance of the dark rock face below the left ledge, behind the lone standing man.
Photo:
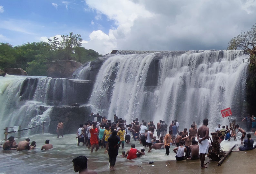
M56 134L56 129L59 120L64 124L64 134L75 134L80 124L84 124L91 114L91 106L67 106L67 107L53 107L49 113L50 125L49 133Z

